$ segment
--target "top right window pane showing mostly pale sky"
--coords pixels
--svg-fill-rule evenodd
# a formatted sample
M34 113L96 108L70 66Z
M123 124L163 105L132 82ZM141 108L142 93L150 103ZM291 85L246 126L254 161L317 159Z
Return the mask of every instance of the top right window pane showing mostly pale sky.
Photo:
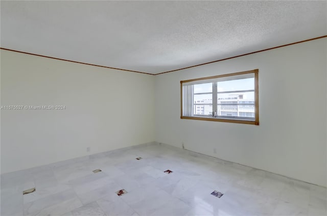
M218 92L254 90L254 78L218 82L217 90Z

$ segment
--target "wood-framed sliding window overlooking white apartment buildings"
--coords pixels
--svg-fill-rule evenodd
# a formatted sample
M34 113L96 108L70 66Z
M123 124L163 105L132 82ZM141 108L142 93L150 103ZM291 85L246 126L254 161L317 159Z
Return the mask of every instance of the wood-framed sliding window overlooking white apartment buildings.
M180 118L259 125L259 70L180 81Z

